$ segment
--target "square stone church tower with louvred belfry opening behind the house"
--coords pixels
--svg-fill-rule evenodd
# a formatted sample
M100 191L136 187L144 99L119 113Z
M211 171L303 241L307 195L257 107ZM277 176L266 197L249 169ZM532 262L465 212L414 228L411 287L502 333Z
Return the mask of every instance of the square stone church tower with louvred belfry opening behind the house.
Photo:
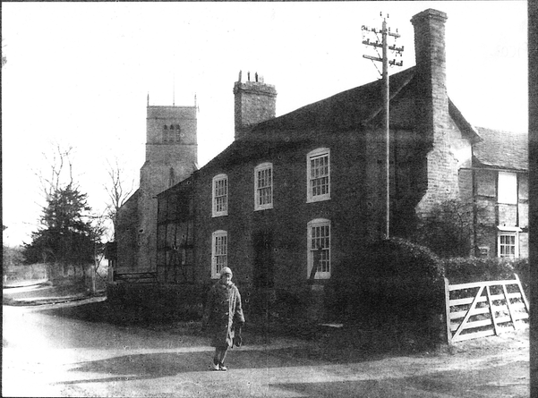
M138 271L155 271L157 195L197 169L197 106L147 106L146 161L138 192Z

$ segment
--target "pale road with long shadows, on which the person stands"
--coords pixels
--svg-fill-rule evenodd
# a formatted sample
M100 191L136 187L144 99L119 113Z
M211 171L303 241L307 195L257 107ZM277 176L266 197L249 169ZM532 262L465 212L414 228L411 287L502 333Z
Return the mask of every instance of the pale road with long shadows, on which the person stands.
M305 354L312 353L312 342L272 338L262 343L245 332L247 343L230 351L226 359L229 370L219 372L208 369L212 357L208 340L185 333L188 325L158 330L115 326L66 317L56 308L3 307L3 396L399 398L529 394L525 333L492 337L485 346L470 343L452 353L322 360ZM502 345L508 349L499 349Z

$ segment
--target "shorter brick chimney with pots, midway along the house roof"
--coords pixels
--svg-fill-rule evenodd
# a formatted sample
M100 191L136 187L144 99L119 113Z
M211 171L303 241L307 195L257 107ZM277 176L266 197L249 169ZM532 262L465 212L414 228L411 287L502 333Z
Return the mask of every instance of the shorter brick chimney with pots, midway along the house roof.
M239 72L234 85L235 140L242 138L255 125L275 117L277 90L265 84L258 73Z

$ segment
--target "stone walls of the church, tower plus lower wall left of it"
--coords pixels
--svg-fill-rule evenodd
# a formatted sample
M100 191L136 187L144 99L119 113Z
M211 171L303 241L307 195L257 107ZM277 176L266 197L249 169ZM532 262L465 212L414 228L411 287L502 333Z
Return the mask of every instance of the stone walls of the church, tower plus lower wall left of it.
M146 160L141 166L140 188L119 212L118 271L156 270L157 195L197 168L196 114L195 106L147 107ZM171 127L174 140L167 139Z

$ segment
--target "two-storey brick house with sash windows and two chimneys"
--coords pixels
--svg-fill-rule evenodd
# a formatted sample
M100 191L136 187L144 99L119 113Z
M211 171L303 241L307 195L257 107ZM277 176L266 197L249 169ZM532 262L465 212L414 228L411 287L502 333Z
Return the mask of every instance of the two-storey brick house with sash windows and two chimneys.
M390 77L390 224L398 236L459 197L458 172L472 167L480 140L448 98L446 19L436 10L414 16L416 66ZM158 194L159 280L203 284L229 266L249 292L323 292L347 253L384 233L380 85L275 117L276 89L240 73L235 141Z

